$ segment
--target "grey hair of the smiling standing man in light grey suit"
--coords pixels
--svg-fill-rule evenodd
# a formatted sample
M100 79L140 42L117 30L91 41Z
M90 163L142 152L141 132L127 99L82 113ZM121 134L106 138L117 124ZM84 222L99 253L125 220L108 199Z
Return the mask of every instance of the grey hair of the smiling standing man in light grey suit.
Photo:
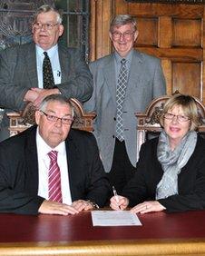
M117 15L112 19L110 32L112 32L114 26L121 26L127 24L132 24L134 31L137 30L137 21L135 17L132 17L132 15Z

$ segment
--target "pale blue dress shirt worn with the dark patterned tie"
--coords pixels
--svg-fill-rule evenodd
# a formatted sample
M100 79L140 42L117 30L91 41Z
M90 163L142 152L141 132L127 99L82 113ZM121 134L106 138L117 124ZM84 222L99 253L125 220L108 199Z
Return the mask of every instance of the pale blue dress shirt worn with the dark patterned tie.
M44 50L35 44L36 51L36 64L37 64L37 74L38 74L38 87L44 88L43 81L43 63L44 63ZM55 44L51 49L46 51L50 62L52 65L52 70L54 74L54 84L61 84L61 65L58 55L58 44Z

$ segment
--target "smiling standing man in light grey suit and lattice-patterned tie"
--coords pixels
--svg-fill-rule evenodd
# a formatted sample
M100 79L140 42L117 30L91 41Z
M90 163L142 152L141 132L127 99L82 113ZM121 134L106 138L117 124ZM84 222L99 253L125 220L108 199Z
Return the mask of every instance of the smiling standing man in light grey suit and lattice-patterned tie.
M84 104L86 110L97 113L94 134L105 172L118 192L136 167L134 113L144 112L153 98L166 94L160 60L134 50L137 37L131 15L113 19L110 38L115 51L90 64L93 96Z

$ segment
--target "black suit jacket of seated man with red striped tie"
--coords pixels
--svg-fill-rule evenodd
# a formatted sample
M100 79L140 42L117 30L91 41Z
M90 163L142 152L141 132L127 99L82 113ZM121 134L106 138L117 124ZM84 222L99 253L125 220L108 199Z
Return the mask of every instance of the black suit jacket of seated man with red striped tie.
M38 192L36 126L0 143L0 212L36 214L44 198ZM99 206L107 201L105 178L92 133L71 130L65 140L72 200Z

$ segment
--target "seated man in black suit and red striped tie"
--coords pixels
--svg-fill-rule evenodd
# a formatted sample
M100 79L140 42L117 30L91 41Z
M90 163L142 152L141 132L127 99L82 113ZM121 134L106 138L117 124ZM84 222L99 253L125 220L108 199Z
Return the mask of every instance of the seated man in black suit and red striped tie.
M102 207L110 185L93 134L71 129L71 103L49 95L35 121L0 143L0 212L67 215Z

